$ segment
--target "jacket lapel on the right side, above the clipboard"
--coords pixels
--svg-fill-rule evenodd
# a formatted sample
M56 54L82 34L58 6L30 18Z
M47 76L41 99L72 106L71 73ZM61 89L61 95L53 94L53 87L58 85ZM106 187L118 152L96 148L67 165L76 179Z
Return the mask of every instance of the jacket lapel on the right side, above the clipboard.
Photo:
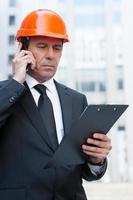
M64 133L67 134L71 127L72 122L72 97L68 88L55 81L55 85L59 94L59 99L61 103Z

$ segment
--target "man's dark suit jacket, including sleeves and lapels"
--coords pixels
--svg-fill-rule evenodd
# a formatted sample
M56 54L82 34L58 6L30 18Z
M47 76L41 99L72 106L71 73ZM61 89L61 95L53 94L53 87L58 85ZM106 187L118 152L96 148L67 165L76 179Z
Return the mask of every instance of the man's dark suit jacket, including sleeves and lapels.
M67 134L87 101L55 84ZM53 153L30 90L12 79L0 82L0 200L85 200L82 178L96 180L104 172L96 176L87 164L48 167Z

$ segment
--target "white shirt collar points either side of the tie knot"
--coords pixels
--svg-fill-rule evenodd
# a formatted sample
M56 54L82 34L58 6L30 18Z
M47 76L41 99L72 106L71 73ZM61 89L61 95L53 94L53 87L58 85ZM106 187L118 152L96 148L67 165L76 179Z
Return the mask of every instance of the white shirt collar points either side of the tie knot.
M32 76L30 76L29 74L26 75L26 82L30 90L34 89L35 85L39 84L39 82L36 79L34 79ZM48 81L45 81L42 84L46 86L49 92L54 93L54 91L56 90L53 78L49 79Z

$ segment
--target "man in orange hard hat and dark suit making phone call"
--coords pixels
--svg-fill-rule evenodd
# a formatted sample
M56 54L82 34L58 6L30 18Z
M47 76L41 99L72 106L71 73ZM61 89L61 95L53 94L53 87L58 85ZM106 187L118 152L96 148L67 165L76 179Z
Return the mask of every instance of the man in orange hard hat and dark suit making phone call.
M51 10L33 11L23 20L16 39L20 43L13 59L13 77L0 83L0 199L85 200L82 178L97 180L106 171L111 149L106 135L94 133L87 138L81 147L84 164L48 165L87 105L83 94L53 79L63 44L68 42L65 24ZM43 95L45 101L40 104ZM43 112L40 109L45 102L52 103L52 130L51 111L43 116L49 105ZM55 146L53 138L58 142Z

